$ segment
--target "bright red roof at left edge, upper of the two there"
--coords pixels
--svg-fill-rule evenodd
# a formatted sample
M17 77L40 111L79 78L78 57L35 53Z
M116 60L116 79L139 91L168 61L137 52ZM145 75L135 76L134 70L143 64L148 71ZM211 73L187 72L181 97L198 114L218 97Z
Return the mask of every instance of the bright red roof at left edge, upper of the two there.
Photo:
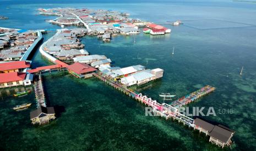
M0 71L5 71L8 69L22 69L22 68L29 68L29 67L30 67L30 62L26 62L26 61L0 63Z

